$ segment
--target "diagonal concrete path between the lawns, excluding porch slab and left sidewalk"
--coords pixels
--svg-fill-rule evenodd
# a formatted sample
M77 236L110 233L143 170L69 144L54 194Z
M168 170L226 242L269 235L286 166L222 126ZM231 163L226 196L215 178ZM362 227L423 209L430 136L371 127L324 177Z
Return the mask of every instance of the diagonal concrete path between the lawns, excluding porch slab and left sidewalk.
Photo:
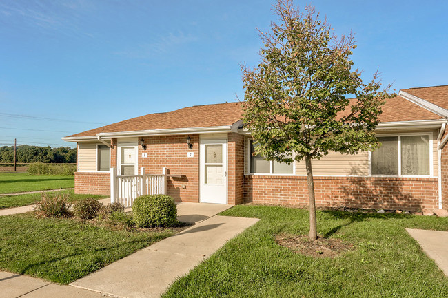
M177 277L256 222L256 218L210 217L70 285L114 297L160 297Z

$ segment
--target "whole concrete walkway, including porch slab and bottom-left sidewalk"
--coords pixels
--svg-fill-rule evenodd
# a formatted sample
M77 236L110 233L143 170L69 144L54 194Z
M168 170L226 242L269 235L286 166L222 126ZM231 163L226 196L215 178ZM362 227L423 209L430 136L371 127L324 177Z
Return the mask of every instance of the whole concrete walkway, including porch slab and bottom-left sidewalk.
M107 204L110 199L100 202ZM0 297L160 297L177 277L187 274L225 242L258 222L256 218L216 215L231 207L179 203L178 219L196 223L194 226L78 279L70 286L0 271Z

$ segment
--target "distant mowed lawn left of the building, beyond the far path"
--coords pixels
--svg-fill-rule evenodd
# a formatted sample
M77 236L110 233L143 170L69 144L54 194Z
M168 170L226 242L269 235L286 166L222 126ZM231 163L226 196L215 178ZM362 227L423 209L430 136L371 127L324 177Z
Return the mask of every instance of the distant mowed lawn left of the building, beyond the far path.
M33 176L28 173L0 173L0 193L22 193L73 187L74 176Z

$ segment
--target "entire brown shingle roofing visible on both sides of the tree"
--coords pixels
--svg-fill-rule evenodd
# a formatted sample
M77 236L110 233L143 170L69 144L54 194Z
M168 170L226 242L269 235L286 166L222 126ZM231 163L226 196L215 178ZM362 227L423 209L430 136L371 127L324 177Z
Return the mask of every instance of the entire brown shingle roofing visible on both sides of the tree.
M448 86L441 86L442 89L430 89L440 87L429 87L427 90L405 89L403 91L411 92L415 96L433 102L436 98L437 103L441 103L444 96L447 98ZM417 90L417 91L416 91ZM445 93L446 92L446 93ZM418 95L417 95L418 94ZM431 97L435 96L435 97ZM434 102L435 103L435 102ZM437 103L435 103L437 105ZM448 103L445 105L448 106ZM443 106L442 106L443 107ZM99 133L122 132L122 131L140 131L152 129L176 129L176 128L194 128L194 127L214 127L232 125L241 120L241 105L239 103L221 103L216 105L196 105L193 107L184 107L176 111L167 113L148 114L128 120L124 120L111 125L105 125L96 129L83 131L69 137L95 136ZM435 120L442 119L441 116L428 111L403 97L396 96L386 100L383 105L383 114L380 115L380 122L397 122L413 120Z

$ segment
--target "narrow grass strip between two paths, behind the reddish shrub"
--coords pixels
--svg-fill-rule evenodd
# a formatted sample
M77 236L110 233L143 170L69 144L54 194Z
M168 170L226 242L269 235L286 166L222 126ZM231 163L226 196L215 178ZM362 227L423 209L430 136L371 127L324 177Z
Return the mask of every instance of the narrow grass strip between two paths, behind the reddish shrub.
M53 192L50 192L53 193ZM54 193L65 193L69 195L70 202L83 200L85 198L103 199L108 198L108 195L79 195L74 194L73 189L65 191L55 191ZM25 195L5 195L0 196L0 209L26 206L34 204L34 202L41 200L41 193L27 193Z

